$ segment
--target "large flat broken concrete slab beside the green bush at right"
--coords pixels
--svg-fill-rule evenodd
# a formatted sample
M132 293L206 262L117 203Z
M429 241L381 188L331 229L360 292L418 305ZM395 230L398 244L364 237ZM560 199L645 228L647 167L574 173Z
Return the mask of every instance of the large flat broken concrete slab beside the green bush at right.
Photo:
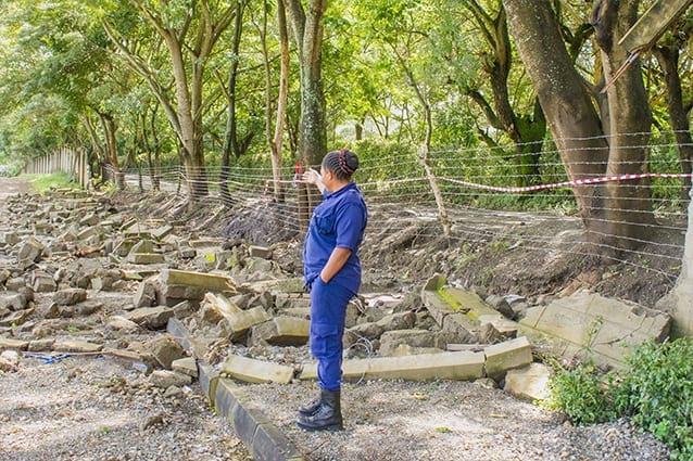
M577 292L528 309L519 325L532 344L557 355L590 355L596 364L622 368L633 346L668 336L671 318L633 303Z

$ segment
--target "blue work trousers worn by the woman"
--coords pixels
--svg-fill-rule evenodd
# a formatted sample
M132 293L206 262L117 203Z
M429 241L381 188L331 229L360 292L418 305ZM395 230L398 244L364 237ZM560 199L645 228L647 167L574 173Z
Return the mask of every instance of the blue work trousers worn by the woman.
M354 293L318 277L311 286L311 353L317 359L320 388L339 390L342 383L342 335L346 305Z

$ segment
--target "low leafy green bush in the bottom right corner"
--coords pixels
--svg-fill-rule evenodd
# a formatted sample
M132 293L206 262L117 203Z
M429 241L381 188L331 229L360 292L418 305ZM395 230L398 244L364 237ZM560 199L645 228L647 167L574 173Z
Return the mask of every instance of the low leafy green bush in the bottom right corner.
M693 459L693 338L645 342L627 358L625 370L609 373L592 362L550 364L555 371L550 408L576 424L631 417L670 447L671 460Z

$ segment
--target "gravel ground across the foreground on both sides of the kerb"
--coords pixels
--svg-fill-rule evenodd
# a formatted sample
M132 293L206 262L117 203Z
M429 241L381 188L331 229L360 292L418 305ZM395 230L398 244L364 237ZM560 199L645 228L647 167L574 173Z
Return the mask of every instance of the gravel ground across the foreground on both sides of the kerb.
M167 397L122 359L25 357L0 383L2 460L252 459L197 384ZM338 433L295 426L313 383L245 388L306 460L668 459L666 447L625 420L574 427L486 381L346 383Z

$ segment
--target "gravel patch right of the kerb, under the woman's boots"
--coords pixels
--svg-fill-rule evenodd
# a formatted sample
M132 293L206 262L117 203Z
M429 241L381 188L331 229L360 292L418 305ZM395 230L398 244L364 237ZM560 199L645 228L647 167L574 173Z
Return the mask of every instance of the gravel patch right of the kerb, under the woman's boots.
M306 433L295 408L312 384L249 393L310 460L666 460L667 449L628 421L574 427L496 388L440 381L370 381L342 389L345 430ZM272 402L270 405L268 402Z

